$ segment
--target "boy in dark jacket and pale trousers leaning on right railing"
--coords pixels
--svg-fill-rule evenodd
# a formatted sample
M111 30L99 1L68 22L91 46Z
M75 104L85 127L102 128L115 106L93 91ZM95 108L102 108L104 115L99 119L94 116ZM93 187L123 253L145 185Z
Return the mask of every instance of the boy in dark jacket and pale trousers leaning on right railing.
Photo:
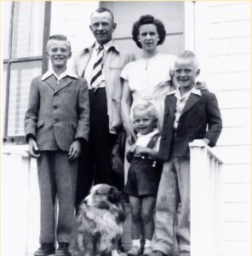
M177 241L180 256L190 255L190 150L189 143L203 139L214 147L222 122L213 93L195 90L200 70L194 53L185 50L175 60L175 79L180 88L165 98L163 131L158 155L164 160L156 205L156 230L152 255L170 255L174 250L178 195L181 212ZM207 131L208 125L208 131ZM200 193L200 191L199 191Z

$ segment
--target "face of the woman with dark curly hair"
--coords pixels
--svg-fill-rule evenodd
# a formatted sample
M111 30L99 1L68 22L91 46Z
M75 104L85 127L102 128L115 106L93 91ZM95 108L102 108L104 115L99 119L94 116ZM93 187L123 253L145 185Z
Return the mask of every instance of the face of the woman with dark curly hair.
M154 24L140 26L138 39L144 50L153 52L157 49L159 40L157 27Z

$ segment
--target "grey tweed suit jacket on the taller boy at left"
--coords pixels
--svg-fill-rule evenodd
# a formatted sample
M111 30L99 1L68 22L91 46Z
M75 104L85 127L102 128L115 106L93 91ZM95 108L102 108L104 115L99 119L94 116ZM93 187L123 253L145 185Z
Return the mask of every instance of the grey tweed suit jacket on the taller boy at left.
M39 150L52 150L54 141L68 151L77 138L89 136L89 93L84 79L66 76L60 84L54 75L31 81L25 117L26 140L35 137Z

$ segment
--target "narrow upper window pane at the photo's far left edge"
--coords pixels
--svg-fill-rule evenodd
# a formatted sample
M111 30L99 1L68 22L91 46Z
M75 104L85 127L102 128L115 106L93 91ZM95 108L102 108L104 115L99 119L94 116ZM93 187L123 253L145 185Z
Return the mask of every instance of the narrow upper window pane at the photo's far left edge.
M9 59L9 25L10 25L10 12L11 12L11 2L1 3L1 28L2 28L2 38L3 38L3 59ZM4 24L4 26L3 26Z

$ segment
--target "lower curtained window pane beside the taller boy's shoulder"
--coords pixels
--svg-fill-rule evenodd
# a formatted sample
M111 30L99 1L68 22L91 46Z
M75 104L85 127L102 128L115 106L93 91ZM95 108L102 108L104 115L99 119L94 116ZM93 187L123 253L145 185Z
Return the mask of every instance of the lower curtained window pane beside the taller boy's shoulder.
M9 83L8 136L23 136L31 79L41 74L41 61L11 65Z

